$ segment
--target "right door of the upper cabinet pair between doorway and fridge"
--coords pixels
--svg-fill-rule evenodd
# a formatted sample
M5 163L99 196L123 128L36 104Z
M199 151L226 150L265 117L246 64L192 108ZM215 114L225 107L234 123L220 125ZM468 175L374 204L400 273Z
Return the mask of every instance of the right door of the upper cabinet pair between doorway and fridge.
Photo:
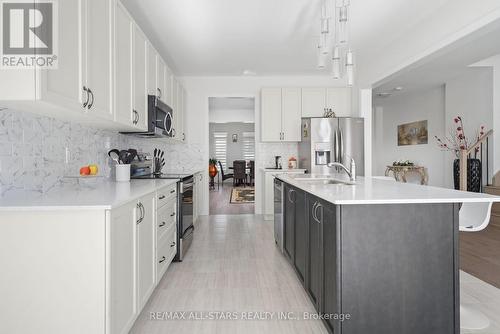
M281 91L282 140L298 142L301 140L301 90L300 88L283 88Z

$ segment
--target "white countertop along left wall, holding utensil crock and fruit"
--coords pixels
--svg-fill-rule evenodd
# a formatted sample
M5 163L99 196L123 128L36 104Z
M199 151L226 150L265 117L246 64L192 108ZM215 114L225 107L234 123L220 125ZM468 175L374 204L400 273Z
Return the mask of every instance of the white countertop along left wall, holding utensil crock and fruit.
M24 190L8 191L0 196L0 211L113 209L177 181L114 182L103 178L84 185L63 185L44 194Z

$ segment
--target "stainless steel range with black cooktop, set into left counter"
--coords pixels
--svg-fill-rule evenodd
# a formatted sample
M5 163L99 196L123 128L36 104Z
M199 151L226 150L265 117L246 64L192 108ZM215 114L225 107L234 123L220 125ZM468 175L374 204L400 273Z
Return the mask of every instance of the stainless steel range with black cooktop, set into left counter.
M132 179L178 179L177 182L177 255L175 261L182 261L193 241L193 186L192 174L147 174L132 176Z

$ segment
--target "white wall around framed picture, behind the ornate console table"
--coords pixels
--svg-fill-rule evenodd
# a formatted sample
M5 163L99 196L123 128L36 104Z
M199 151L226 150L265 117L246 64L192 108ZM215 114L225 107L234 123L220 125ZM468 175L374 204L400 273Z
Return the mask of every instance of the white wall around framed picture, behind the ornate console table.
M382 130L375 133L374 175L384 175L395 160L408 159L427 168L430 185L444 186L444 153L434 140L443 135L444 101L443 86L374 100L374 127ZM421 120L428 121L428 144L398 146L398 125Z

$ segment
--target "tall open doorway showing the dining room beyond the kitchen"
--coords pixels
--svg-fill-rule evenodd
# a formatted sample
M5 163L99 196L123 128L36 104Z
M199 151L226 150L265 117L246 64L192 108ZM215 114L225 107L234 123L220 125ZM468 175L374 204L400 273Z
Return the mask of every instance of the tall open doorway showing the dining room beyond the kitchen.
M210 182L209 214L255 212L255 99L209 98L210 159L217 173Z

